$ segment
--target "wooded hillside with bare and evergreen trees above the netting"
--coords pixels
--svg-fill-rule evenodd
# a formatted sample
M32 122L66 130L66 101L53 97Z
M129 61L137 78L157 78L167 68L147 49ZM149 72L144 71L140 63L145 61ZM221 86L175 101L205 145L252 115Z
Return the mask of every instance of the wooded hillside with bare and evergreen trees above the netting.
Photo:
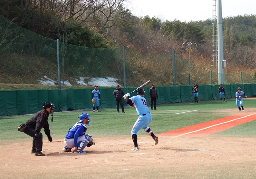
M190 63L216 72L216 66L212 66L212 20L180 22L136 17L123 6L125 1L2 0L0 15L40 36L80 47L115 48L124 45L151 53L175 49L187 60L187 53L180 51L181 45L195 42L199 50L192 52ZM255 15L223 19L225 74L241 71L254 75L255 46Z

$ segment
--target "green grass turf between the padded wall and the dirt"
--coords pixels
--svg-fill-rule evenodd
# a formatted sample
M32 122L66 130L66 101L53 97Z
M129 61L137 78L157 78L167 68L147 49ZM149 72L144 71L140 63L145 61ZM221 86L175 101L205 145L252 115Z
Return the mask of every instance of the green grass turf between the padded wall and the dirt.
M244 108L255 108L255 99L245 99ZM235 99L200 101L199 103L175 103L157 105L157 110L151 110L152 122L149 127L154 134L172 131L174 129L207 122L214 119L230 116L230 112L220 112L225 109L233 109L238 112ZM255 108L256 109L256 108ZM101 112L68 111L54 113L53 122L49 116L50 131L53 140L64 138L68 129L78 121L78 115L82 112L91 115L91 122L87 134L93 137L110 137L131 135L131 128L137 119L135 108L125 107L125 114L117 114L116 109L100 109ZM241 112L242 113L242 112ZM255 110L256 113L256 110ZM26 134L17 131L21 123L25 123L32 115L0 117L0 144L8 143L9 140L31 140ZM213 135L256 135L256 120L219 132ZM140 130L138 135L147 135ZM43 132L44 138L46 135Z

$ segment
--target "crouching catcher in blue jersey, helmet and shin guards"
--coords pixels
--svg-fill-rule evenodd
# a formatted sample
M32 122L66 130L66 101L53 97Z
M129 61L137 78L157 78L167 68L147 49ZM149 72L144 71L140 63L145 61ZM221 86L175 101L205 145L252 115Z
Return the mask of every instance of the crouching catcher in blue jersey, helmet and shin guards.
M84 148L95 144L92 137L89 134L85 134L87 130L86 125L89 126L90 115L88 113L81 113L78 118L79 121L73 127L69 128L64 138L64 144L66 146L62 149L63 152L71 152L71 149L75 148L75 153L86 153L83 151Z

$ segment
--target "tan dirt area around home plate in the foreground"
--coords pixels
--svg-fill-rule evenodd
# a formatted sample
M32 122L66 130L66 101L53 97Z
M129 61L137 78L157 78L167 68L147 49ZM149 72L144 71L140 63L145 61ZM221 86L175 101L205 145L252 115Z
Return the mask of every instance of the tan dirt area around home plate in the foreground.
M151 137L138 135L139 151L130 150L131 136L94 140L86 154L62 152L63 139L50 143L46 137L46 156L30 153L32 140L1 146L0 178L256 178L256 137L159 135L154 145Z

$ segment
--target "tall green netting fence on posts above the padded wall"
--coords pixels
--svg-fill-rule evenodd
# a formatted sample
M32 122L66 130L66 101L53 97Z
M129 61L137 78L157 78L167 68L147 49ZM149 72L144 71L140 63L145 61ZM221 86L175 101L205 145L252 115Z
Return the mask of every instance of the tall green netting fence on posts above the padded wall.
M85 83L92 77L113 77L125 87L140 86L148 80L159 86L187 85L189 79L190 84L218 84L218 74L189 64L174 50L150 53L127 47L79 47L29 32L2 16L0 58L3 77L0 83L9 83L13 76L19 79L16 83L30 84L32 80L24 77L40 75L57 82L66 80L65 76L85 77ZM46 68L46 63L50 68ZM224 84L256 83L256 76L224 74L224 81Z

